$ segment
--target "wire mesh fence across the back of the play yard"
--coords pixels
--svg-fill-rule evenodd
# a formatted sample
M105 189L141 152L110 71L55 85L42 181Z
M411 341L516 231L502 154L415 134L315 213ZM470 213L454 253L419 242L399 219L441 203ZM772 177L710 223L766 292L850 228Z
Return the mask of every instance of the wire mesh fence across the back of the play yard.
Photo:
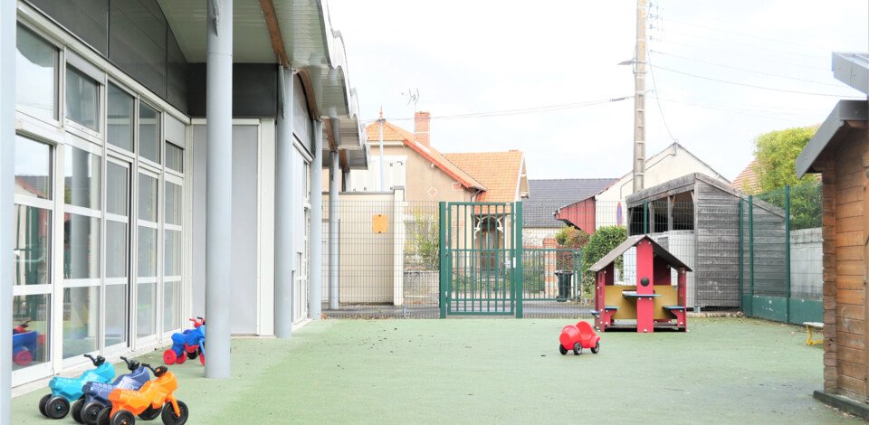
M440 229L437 202L406 202L400 193L341 194L337 231L329 231L329 203L324 202L323 312L330 317L436 318L445 282L448 290L472 291L473 297L497 287L499 297L520 303L525 317L590 317L594 277L589 266L626 237L649 234L692 269L685 307L742 309L777 320L814 317L821 311L816 306L821 232L806 226L820 221L820 212L810 208L812 196L819 196L813 191L819 189L815 184L798 190L800 199L794 189L788 205L784 190L750 198L700 185L629 203L536 204L523 207L524 218L515 223L521 239L500 229L510 221L473 206L465 208L471 213L459 221L465 227L449 236L449 230ZM785 207L797 203L806 206L800 207L805 213L792 207L788 222ZM795 228L797 222L800 228ZM337 253L329 252L330 234L337 240ZM450 245L440 246L440 237ZM453 263L442 282L441 255L456 248L457 238L467 242L466 251L451 251ZM522 249L513 250L519 241ZM521 257L513 261L517 252ZM463 271L457 274L456 268ZM636 252L627 250L616 261L616 285L635 285L635 269ZM671 278L674 284L675 270ZM521 296L513 288L522 288ZM764 302L773 307L760 308Z

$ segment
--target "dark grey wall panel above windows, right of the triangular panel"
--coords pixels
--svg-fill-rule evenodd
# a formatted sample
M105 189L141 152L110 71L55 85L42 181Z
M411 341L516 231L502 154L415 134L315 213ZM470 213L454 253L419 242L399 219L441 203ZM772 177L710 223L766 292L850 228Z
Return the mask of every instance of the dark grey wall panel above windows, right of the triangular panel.
M166 98L167 21L153 0L111 0L109 59Z

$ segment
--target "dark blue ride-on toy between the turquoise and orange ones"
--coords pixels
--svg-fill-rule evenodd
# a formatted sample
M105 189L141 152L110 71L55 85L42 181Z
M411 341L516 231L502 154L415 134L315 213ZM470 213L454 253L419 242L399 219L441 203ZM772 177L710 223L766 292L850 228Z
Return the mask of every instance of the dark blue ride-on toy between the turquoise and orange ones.
M100 411L111 406L109 402L109 393L118 388L121 390L138 390L150 381L151 376L148 373L148 368L139 364L137 360L128 360L127 357L121 357L121 360L127 364L129 373L120 375L114 382L88 382L81 387L81 392L84 392L84 399L79 399L72 404L72 419L79 423L87 423L88 425L96 425L97 417L100 416ZM154 411L157 413L155 414ZM159 409L152 409L150 414L139 415L143 420L153 420L160 413Z

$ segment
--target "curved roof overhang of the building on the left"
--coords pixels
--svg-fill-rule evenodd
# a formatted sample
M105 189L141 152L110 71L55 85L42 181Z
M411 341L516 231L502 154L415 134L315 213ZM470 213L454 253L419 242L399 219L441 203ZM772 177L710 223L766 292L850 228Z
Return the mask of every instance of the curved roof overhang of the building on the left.
M205 62L209 2L158 0L187 61ZM274 63L299 71L312 117L339 121L339 150L364 152L356 90L344 38L332 28L328 0L234 0L233 61ZM287 63L284 63L287 62ZM323 144L329 150L329 144ZM366 159L366 164L368 160Z

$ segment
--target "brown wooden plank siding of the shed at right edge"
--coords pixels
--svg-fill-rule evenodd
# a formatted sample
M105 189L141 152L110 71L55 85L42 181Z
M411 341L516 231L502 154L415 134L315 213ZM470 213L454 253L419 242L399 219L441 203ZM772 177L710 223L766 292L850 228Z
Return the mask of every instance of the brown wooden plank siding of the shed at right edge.
M867 400L865 196L869 133L851 132L816 161L822 170L824 390Z

